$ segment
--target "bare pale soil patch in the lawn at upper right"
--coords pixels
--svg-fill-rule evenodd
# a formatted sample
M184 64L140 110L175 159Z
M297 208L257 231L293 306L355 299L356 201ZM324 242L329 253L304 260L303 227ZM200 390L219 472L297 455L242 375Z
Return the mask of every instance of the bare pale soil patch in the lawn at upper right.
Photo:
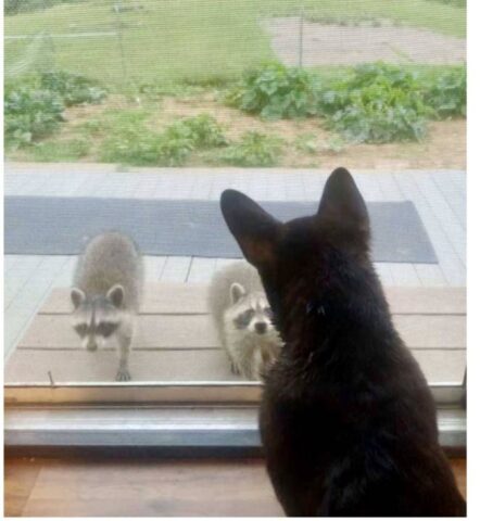
M466 61L466 41L414 27L325 25L303 22L302 63L305 66L354 65L376 61L400 64L457 64ZM271 47L287 65L300 62L296 16L264 22Z

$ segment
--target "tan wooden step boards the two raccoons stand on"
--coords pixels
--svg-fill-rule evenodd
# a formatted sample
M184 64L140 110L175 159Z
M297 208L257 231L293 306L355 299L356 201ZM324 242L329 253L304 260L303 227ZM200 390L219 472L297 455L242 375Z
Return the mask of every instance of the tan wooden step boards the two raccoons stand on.
M393 321L429 383L462 384L466 358L466 294L455 288L387 288ZM238 380L209 315L205 284L148 284L130 354L134 381ZM114 346L81 348L71 325L66 288L52 291L18 341L5 383L110 382Z

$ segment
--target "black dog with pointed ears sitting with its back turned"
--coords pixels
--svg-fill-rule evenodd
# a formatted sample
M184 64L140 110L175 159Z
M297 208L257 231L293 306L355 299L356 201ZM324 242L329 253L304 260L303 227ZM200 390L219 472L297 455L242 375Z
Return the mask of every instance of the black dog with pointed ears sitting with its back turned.
M281 224L233 190L222 211L286 342L260 419L285 511L465 516L430 390L371 264L367 209L350 174L332 173L312 217Z

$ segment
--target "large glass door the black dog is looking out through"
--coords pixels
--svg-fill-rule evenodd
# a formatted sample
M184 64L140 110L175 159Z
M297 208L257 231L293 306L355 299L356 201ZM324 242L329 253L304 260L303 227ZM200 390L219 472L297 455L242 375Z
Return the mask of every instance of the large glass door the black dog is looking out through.
M280 218L305 215L339 165L367 201L376 268L444 443L465 442L465 2L4 12L8 443L122 444L136 425L125 443L160 430L165 446L172 432L255 446L261 384L232 372L207 301L241 257L218 199L236 188ZM94 353L72 325L78 255L111 229L144 258L129 381L116 380L116 323Z

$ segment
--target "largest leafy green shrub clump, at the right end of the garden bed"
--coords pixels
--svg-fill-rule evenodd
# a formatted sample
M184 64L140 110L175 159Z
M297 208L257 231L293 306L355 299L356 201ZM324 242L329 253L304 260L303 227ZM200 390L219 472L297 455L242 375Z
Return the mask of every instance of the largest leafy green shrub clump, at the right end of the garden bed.
M466 69L414 74L382 63L362 65L324 90L319 113L350 141L421 139L431 118L465 116Z

